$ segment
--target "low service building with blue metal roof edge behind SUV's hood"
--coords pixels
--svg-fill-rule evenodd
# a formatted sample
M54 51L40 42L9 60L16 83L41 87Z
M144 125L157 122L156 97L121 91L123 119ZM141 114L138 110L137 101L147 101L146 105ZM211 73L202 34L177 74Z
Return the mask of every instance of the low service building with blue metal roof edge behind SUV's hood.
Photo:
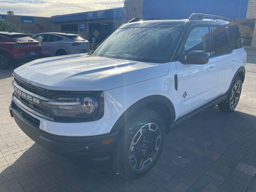
M124 23L124 8L52 16L54 32L79 34L95 48Z

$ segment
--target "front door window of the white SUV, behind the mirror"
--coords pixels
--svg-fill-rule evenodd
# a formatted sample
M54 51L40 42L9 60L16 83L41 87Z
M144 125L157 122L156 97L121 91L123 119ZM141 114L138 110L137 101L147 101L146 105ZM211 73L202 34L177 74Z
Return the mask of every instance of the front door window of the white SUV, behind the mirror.
M192 50L205 51L209 56L211 52L210 32L208 27L196 27L190 32L184 46L185 59Z

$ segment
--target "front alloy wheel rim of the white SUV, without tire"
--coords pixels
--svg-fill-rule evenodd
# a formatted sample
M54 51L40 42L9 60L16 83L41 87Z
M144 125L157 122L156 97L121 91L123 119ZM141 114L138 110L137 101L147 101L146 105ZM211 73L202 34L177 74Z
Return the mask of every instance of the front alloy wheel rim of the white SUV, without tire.
M132 139L129 162L133 169L146 168L156 157L161 142L161 131L157 124L142 126Z

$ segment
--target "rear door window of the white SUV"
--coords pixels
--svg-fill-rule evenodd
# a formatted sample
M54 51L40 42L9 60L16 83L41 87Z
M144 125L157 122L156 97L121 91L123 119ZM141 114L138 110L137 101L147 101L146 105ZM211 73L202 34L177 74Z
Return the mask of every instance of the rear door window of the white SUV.
M224 27L212 27L214 55L221 55L230 52L229 38Z

